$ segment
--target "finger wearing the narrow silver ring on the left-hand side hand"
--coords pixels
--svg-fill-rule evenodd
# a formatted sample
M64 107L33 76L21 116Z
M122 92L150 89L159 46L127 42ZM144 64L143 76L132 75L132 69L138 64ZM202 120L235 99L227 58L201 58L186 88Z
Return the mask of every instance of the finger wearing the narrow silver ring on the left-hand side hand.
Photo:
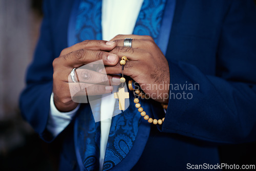
M87 70L87 69L77 69L75 70L76 77L75 80L77 82L84 82L84 83L93 83L93 84L102 84L106 86L110 85L119 85L120 76L115 75L106 75L103 73ZM71 77L69 77L71 78ZM72 80L69 80L72 82Z

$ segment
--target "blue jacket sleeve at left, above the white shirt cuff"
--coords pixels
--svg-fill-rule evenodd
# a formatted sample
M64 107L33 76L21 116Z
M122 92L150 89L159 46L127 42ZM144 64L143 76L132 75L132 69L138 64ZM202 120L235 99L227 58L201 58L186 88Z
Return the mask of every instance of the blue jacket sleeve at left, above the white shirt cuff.
M52 93L53 41L51 39L50 1L44 2L44 19L34 59L28 68L25 90L20 95L22 116L32 125L40 137L45 137ZM45 139L46 140L46 139Z

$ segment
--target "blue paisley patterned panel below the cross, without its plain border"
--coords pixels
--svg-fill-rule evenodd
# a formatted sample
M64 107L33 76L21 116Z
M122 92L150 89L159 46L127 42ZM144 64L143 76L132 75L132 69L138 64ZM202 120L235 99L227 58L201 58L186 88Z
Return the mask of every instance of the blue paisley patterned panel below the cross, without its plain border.
M144 110L150 109L146 102L140 102ZM115 110L119 110L116 100ZM148 111L147 115L151 116ZM141 115L133 102L133 93L130 93L130 106L124 112L112 118L108 144L106 145L103 170L109 170L119 164L129 154L134 146L138 127L140 125ZM146 125L150 127L150 125Z

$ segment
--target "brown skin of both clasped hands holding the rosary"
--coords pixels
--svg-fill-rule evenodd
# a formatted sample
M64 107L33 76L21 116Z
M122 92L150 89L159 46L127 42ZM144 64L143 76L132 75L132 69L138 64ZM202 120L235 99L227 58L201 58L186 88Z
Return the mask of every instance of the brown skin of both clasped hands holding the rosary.
M126 37L133 38L132 48L123 47ZM80 42L63 49L59 57L54 59L53 93L56 108L60 112L74 110L78 103L72 101L72 92L74 94L80 90L79 95L84 96L112 92L113 87L110 85L120 84L120 76L115 74L122 73L119 63L122 56L129 59L124 65L123 74L138 82L141 89L152 99L167 103L168 98L164 98L163 95L169 93L168 62L153 38L139 35L117 35L111 41ZM101 71L76 70L79 83L70 81L70 72L73 68L79 68L100 59L103 60L108 75L104 75ZM106 76L108 80L105 79ZM158 89L160 84L163 84L165 89ZM87 90L85 87L88 87ZM159 94L162 96L158 96Z

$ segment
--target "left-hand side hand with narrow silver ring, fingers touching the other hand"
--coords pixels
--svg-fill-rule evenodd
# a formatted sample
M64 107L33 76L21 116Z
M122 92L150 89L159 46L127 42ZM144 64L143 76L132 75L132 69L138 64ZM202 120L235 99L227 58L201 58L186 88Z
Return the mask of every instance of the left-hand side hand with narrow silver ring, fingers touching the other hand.
M104 52L111 51L115 47L116 42L86 40L63 49L59 57L54 59L54 104L60 112L72 111L78 105L78 103L72 101L71 94L77 93L79 96L87 96L110 93L113 90L113 87L110 86L111 84L120 84L119 76L107 75L106 77L105 74L88 69L77 69L76 81L79 82L69 82L73 68L78 68L100 59L103 60L105 66L115 66L119 60L118 56L110 52Z

